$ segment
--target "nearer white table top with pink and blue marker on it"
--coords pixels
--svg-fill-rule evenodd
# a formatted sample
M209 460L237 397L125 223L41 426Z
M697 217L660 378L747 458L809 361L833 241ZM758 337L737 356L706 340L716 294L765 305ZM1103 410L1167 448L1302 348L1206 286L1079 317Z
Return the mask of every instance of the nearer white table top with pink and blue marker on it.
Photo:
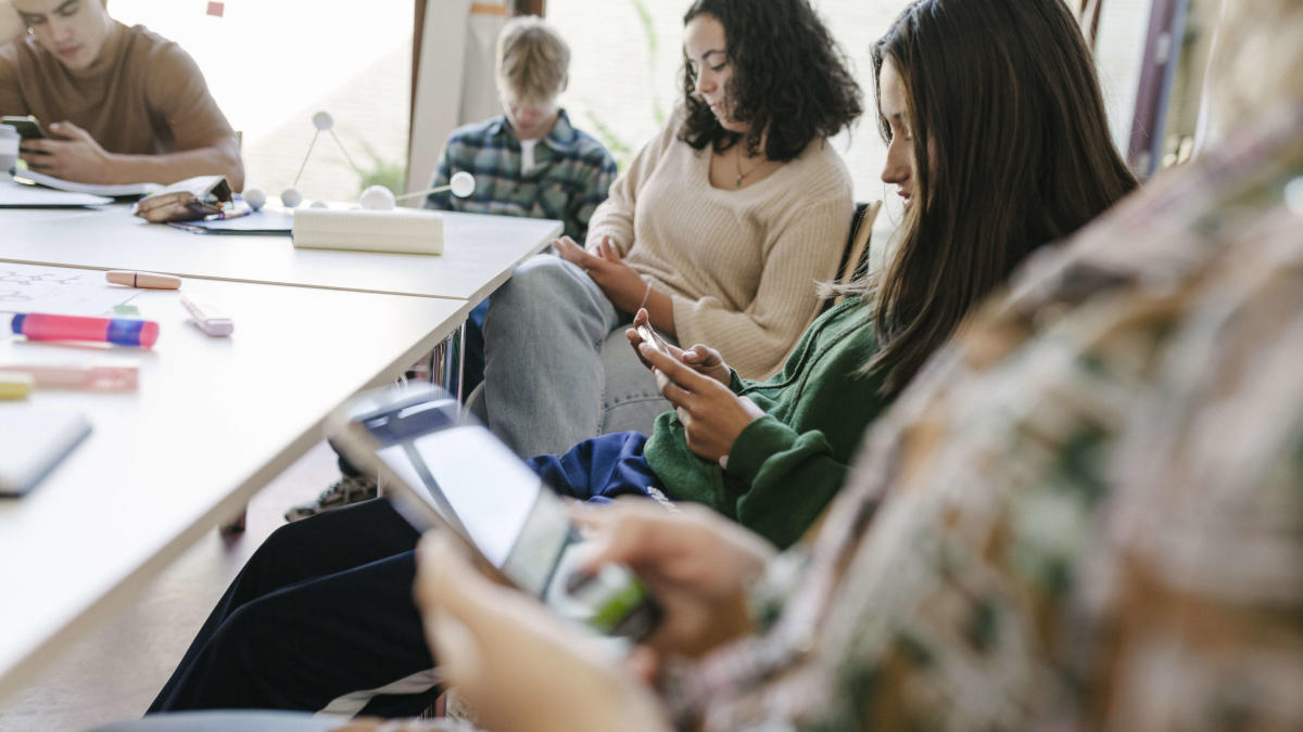
M162 328L152 350L0 340L0 363L141 369L137 392L27 399L82 410L94 431L33 492L0 499L0 696L237 513L321 439L335 405L395 379L472 306L202 280L184 292L220 303L233 336L186 323L176 292L139 290L130 303Z

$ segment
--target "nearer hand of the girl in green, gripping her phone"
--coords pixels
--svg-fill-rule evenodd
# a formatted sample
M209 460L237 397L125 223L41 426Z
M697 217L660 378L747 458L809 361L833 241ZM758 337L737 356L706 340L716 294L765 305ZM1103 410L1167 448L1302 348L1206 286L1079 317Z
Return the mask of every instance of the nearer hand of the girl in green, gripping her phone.
M652 344L640 344L638 353L659 371L661 393L670 400L688 435L688 449L710 461L732 451L747 425L765 415L756 402L735 395L727 384L698 374L696 369L661 353Z

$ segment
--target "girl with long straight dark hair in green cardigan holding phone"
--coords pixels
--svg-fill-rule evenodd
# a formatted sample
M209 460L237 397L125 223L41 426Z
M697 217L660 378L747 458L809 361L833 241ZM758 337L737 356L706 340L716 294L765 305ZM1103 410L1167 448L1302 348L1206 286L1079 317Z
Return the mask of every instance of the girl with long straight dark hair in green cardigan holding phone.
M942 17L882 42L882 177L909 206L891 266L860 285L868 297L816 320L769 382L740 379L704 345L687 357L640 343L672 382L665 391L678 414L662 415L650 438L606 435L534 458L537 473L577 498L701 503L778 546L807 530L846 481L866 426L972 305L1028 253L1135 185L1109 138L1091 53L1059 0L1005 13L992 3L1005 7L951 0L982 8L972 13L982 22ZM711 34L722 34L718 18L692 17L689 56L700 59L696 39ZM439 676L410 597L417 538L387 501L281 528L151 711L421 711Z

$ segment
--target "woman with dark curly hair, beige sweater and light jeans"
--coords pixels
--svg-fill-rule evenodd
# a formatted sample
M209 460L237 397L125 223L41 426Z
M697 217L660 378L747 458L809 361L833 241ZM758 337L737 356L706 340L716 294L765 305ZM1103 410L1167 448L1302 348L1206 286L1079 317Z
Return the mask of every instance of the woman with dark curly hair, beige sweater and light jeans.
M521 264L489 307L486 422L523 457L665 412L624 344L638 307L765 379L835 275L853 206L829 138L861 102L827 29L805 0L700 0L684 23L683 100L593 214L588 253L554 242L562 258Z

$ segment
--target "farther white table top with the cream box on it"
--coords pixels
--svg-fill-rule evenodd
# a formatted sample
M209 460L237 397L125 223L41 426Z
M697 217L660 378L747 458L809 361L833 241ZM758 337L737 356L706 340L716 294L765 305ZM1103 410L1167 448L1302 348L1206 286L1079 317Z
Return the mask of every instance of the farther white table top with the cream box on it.
M193 234L149 224L125 206L57 218L0 211L0 259L9 262L480 302L560 236L562 225L444 212L440 255L294 249L287 236Z

